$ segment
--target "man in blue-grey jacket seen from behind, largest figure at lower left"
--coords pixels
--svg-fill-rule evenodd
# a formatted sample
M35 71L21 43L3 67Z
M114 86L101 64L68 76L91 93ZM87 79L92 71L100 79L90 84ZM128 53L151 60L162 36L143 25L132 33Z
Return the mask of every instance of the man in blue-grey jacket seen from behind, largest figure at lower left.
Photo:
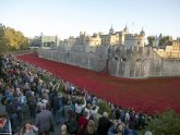
M39 135L49 135L52 125L51 111L46 110L46 105L41 105L41 111L36 114L35 125L38 127Z

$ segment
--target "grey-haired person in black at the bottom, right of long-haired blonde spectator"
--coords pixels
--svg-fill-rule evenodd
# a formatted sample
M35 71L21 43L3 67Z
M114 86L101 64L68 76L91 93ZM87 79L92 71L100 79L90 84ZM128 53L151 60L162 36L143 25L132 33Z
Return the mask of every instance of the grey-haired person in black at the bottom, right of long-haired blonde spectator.
M98 121L97 132L100 135L108 135L108 130L112 125L112 122L108 119L108 113L104 112L103 116Z

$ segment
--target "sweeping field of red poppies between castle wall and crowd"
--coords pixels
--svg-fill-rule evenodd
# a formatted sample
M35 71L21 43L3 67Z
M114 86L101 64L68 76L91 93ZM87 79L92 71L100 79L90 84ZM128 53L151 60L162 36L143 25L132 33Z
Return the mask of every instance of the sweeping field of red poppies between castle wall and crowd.
M19 59L48 70L56 76L85 88L115 105L155 114L167 109L180 113L180 77L118 78L98 72L38 58L36 54Z

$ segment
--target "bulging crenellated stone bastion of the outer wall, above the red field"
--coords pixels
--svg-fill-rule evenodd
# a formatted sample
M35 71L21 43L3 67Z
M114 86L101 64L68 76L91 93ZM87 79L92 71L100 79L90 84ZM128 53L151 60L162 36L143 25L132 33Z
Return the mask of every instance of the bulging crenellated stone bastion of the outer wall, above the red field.
M147 77L149 71L151 48L119 48L112 52L109 71L118 77Z

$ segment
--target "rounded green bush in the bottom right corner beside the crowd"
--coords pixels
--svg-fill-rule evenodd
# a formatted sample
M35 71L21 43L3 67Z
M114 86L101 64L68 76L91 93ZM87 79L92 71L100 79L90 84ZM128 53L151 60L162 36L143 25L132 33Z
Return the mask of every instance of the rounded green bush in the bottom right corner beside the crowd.
M151 131L153 135L179 135L180 115L173 110L168 110L152 119L145 131Z

